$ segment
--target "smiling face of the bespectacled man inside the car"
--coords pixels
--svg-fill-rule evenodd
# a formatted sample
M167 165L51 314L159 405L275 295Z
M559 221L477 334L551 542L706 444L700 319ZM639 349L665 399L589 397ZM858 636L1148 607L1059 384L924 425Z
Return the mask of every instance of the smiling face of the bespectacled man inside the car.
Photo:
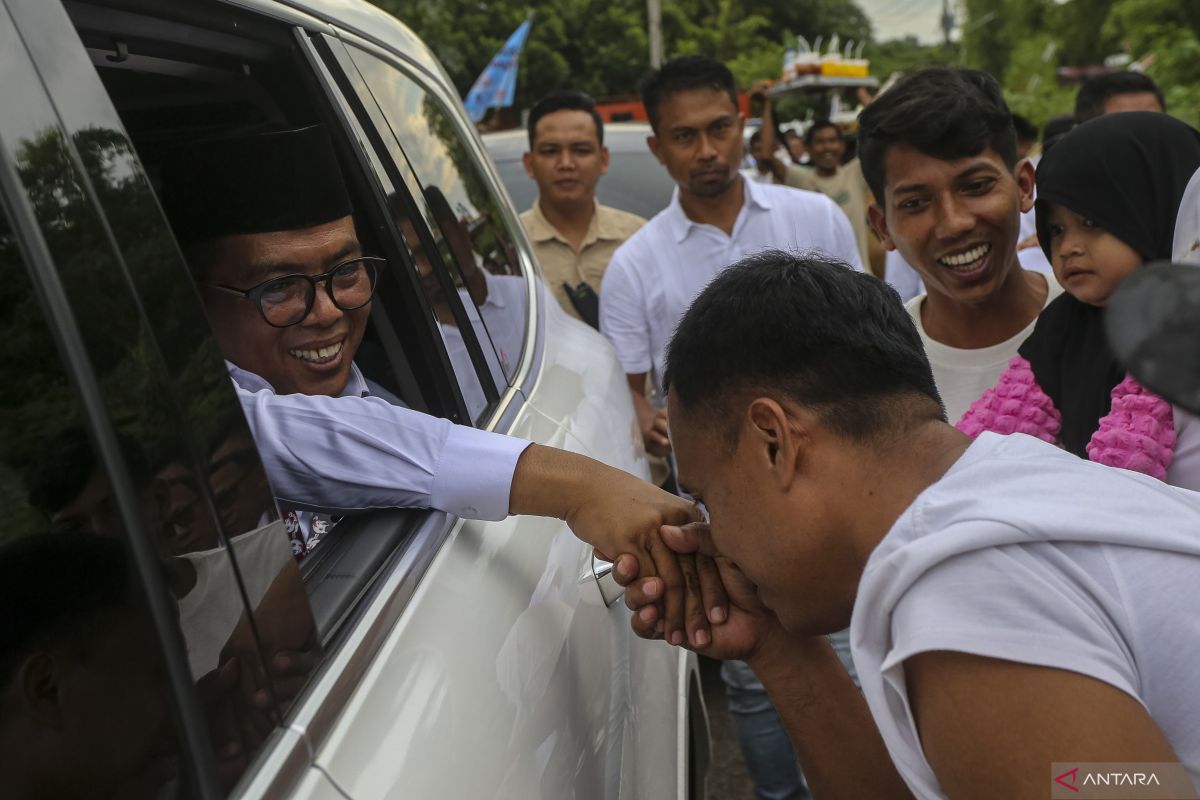
M205 253L204 283L250 289L283 275L318 275L361 254L349 216L302 230L226 236ZM320 284L304 320L272 327L250 300L205 287L202 296L224 357L278 393L338 395L346 387L371 303L342 311Z

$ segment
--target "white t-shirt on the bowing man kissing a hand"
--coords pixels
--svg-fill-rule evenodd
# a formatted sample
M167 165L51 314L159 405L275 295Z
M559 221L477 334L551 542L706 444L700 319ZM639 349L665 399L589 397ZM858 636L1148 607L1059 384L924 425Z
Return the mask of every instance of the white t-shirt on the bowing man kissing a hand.
M854 602L863 693L908 787L944 796L904 672L935 650L1115 686L1146 708L1200 786L1196 585L1200 494L1032 437L982 434L896 519Z

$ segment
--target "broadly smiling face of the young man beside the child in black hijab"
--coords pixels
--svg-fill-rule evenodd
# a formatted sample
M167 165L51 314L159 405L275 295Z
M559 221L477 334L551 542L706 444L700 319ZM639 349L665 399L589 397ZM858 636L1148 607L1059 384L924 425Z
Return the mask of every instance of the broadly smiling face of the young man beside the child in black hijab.
M1016 264L1020 212L1032 207L1033 168L994 150L943 161L907 144L884 156L886 190L871 223L930 294L985 302Z

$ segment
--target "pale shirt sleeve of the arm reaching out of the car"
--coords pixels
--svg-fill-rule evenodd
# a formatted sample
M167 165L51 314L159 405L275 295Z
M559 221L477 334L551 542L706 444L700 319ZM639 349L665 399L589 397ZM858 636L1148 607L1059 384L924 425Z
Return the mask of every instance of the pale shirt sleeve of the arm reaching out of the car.
M528 441L391 405L378 397L251 391L234 381L275 497L350 513L436 509L503 519Z

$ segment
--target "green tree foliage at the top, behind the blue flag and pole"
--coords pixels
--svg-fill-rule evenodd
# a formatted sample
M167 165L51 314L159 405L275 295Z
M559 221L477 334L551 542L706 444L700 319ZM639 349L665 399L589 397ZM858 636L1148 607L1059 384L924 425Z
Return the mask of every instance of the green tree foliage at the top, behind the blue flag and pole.
M463 96L505 38L533 14L521 55L516 106L571 86L595 97L637 94L649 68L646 0L372 0L434 50ZM853 0L665 0L667 58L704 53L726 61L743 86L778 77L794 35L870 38Z

